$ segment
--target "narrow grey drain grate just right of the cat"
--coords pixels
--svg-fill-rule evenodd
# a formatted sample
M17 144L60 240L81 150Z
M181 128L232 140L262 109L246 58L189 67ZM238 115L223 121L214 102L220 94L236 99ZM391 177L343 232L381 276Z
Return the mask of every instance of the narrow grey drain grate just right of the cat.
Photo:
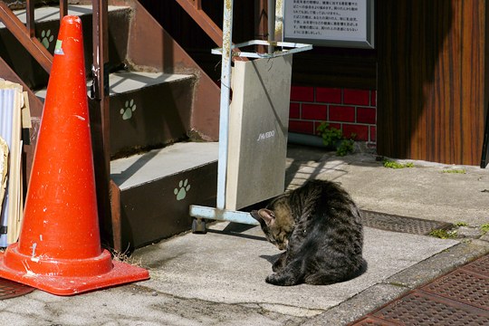
M381 230L404 232L413 235L428 235L435 229L446 229L451 224L446 222L430 221L420 218L395 216L384 213L361 211L363 225Z

